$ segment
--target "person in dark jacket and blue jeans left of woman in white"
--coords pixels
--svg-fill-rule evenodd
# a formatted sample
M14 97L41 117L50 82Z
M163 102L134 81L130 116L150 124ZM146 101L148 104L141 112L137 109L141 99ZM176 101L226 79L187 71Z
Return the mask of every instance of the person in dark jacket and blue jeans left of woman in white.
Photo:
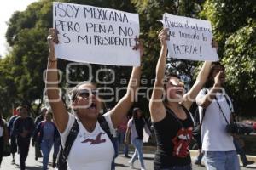
M58 130L55 123L52 122L52 112L46 111L44 121L38 123L38 126L33 134L32 145L38 141L43 152L43 170L47 170L49 163L49 153L54 144L55 137L58 135Z

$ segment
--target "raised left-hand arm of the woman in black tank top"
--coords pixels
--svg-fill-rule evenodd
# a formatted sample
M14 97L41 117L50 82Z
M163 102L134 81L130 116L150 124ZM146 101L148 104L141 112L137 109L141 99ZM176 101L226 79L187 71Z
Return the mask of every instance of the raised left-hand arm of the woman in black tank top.
M167 44L166 39L168 39L168 29L163 29L159 33L159 39L161 43L160 57L158 59L156 69L155 69L155 82L153 93L149 101L149 111L151 115L152 122L160 121L166 114L165 106L162 102L162 95L164 92L164 76L166 69L166 54L167 54Z

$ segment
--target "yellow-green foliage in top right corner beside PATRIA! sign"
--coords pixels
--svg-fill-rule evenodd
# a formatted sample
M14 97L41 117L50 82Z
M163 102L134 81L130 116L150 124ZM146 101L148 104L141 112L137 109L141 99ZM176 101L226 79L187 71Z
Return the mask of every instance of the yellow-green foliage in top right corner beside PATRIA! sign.
M220 56L224 54L224 42L230 35L243 26L247 19L256 14L255 1L251 0L207 0L201 17L212 22L214 37L219 42Z

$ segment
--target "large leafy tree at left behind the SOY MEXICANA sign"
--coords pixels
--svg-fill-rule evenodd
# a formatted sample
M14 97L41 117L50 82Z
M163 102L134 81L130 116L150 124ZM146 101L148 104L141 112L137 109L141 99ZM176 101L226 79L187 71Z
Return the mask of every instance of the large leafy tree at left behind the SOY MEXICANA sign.
M135 8L130 1L63 1L67 3L88 4L105 8L116 8L127 12L134 12ZM9 20L8 31L6 32L7 42L12 49L7 58L12 59L12 71L9 72L10 79L14 82L16 98L12 102L23 103L29 106L33 114L38 114L39 108L44 104L44 80L43 74L46 69L48 47L46 37L52 23L52 1L42 0L32 3L23 12L16 12ZM67 91L73 83L69 83L66 77L67 61L60 59L58 68L64 73L61 88ZM4 65L5 66L5 65ZM103 68L103 65L92 65L94 77L96 70ZM74 80L84 77L88 71L82 68L73 69ZM1 88L9 92L7 81L8 76L0 81ZM65 96L63 96L65 98ZM6 100L1 99L3 105ZM35 105L36 104L36 105ZM9 105L6 105L10 107Z

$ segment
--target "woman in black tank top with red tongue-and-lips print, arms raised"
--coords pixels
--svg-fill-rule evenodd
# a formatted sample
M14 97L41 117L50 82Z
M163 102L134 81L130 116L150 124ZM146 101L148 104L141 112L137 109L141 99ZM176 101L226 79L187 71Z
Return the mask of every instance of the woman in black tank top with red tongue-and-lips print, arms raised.
M168 38L168 29L160 31L160 58L156 65L156 79L149 103L157 140L154 170L189 170L192 168L189 144L194 126L189 108L207 81L211 62L204 63L195 84L184 94L184 83L180 77L176 74L165 76Z

